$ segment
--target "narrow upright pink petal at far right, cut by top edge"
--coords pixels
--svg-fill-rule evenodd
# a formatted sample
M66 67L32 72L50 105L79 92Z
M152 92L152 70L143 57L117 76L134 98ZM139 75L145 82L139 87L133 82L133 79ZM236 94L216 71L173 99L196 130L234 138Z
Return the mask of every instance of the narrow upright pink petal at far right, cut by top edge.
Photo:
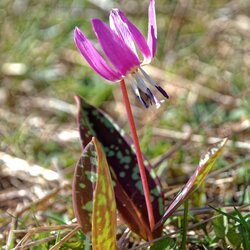
M150 0L148 7L148 47L151 51L151 58L154 57L157 43L157 26L155 15L155 0Z

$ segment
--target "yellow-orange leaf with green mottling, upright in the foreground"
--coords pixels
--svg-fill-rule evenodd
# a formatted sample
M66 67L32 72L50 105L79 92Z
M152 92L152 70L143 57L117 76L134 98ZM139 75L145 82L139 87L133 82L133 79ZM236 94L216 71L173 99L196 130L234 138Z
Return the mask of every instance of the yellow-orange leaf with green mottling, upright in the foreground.
M109 166L100 143L92 139L98 156L92 214L93 250L116 249L116 203Z

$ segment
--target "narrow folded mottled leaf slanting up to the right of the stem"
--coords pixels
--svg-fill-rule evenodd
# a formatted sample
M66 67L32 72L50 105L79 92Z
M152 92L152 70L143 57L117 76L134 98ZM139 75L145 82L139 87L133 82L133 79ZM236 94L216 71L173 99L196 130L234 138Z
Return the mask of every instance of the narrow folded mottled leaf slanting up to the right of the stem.
M217 158L221 155L226 142L227 139L224 139L214 144L206 152L206 154L201 157L199 166L195 170L194 174L170 203L162 219L156 224L155 228L162 226L163 223L174 213L174 211L190 196L190 194L200 186L213 167Z

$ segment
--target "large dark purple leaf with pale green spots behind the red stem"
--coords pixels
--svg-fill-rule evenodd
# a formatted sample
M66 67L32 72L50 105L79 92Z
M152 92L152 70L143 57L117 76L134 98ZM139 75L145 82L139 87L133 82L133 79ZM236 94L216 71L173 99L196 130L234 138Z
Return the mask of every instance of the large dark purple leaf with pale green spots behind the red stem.
M148 222L145 197L131 139L100 109L82 98L76 97L78 104L78 124L85 148L92 136L102 144L114 181L117 209L128 227L145 240L158 237L162 233L159 227L153 233ZM164 212L164 199L160 181L149 162L144 159L146 175L152 197L155 221L160 220Z

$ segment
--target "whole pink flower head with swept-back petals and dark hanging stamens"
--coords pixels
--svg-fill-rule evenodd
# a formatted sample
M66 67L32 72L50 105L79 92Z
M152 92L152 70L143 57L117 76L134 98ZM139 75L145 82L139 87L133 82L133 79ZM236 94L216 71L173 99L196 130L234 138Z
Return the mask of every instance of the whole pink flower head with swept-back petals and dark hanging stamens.
M155 1L150 0L148 8L148 39L131 23L119 9L112 9L109 16L110 26L99 19L92 20L92 27L96 37L107 56L109 62L100 55L87 37L75 28L74 38L76 46L91 68L106 80L116 82L121 79L129 80L131 86L144 105L160 106L148 85L152 85L166 98L167 93L157 85L142 69L151 62L155 55L157 43L157 27L155 16ZM140 59L137 51L140 52Z

